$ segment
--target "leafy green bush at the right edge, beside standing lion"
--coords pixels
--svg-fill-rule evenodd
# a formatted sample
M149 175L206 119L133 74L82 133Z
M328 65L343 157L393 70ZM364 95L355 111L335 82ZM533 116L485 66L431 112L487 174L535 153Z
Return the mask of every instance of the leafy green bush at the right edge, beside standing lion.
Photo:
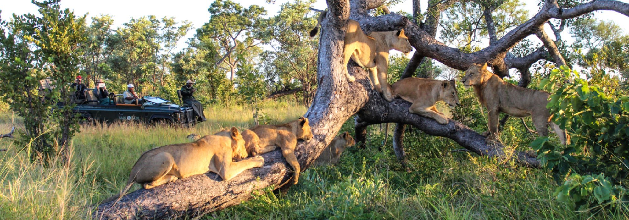
M604 88L590 85L565 66L552 70L550 77L540 82L540 87L554 91L547 107L554 123L565 129L572 139L567 146L548 137L537 138L530 144L537 150L542 165L552 170L555 179L574 173L557 191L558 198L571 197L577 209L593 204L594 199L589 196L596 197L598 204L616 204L618 199L629 199L620 194L625 192L629 174L629 97L605 94ZM581 179L583 181L577 184ZM592 179L601 184L594 189L594 194L588 188L593 186L587 185ZM581 194L571 193L574 189Z

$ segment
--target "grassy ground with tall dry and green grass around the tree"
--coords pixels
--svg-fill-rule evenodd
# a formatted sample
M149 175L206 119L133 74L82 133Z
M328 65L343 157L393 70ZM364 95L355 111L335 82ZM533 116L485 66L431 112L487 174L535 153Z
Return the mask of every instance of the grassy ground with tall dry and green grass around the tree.
M450 113L452 118L484 131L484 114L472 92L460 92L462 106ZM286 100L264 104L268 123L291 121L306 112L306 107ZM70 146L70 167L31 163L28 151L20 151L12 139L3 138L0 148L8 151L0 152L0 219L86 219L92 210L88 204L123 188L143 151L189 141L186 136L191 133L209 135L221 128L243 129L253 124L247 106L208 106L205 113L208 121L195 128L133 123L82 126ZM8 132L11 124L19 128L19 123L11 112L4 111L0 133ZM557 183L545 170L520 167L505 158L452 153L460 148L454 141L418 129L409 128L405 135L413 170L406 172L396 161L391 137L379 150L384 140L382 129L370 126L367 146L348 148L337 165L304 171L299 184L286 195L269 189L204 218L627 219L626 209L573 211L571 205L555 199ZM345 131L353 135L353 118L343 124L340 133ZM501 138L509 148L520 150L526 150L533 140L520 119L509 119ZM139 187L136 184L132 190Z

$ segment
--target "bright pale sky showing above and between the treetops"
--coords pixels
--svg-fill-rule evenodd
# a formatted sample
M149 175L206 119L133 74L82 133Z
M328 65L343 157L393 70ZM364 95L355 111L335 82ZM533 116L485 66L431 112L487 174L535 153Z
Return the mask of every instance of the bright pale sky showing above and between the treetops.
M108 0L108 1L94 1L94 0L62 0L62 8L69 8L74 10L76 14L88 14L88 17L98 16L100 14L109 14L113 16L114 28L121 26L123 23L129 21L131 18L140 18L142 16L155 15L158 18L164 16L175 17L177 21L191 21L194 28L201 27L205 22L209 21L208 7L213 0ZM267 4L264 0L235 0L240 2L245 7L251 4L259 4L263 6L268 13L268 16L277 14L282 3L294 0L277 0L275 4ZM428 0L422 0L421 6L425 9L428 5ZM628 2L629 0L621 0ZM535 0L523 0L522 2L529 2L525 6L530 11L531 16L537 13L537 1ZM313 8L324 9L326 8L325 0L317 0ZM411 0L406 0L403 3L398 4L391 8L391 11L406 11L411 13ZM11 14L24 14L24 13L37 13L37 7L31 3L31 0L0 0L0 16L3 19L9 19ZM599 20L611 20L616 24L628 24L629 18L616 12L603 11L596 13L594 18ZM194 29L189 31L178 45L178 49L185 48L186 40L194 35ZM548 31L549 34L552 31ZM568 31L564 32L564 38L569 39ZM627 30L624 30L628 33Z

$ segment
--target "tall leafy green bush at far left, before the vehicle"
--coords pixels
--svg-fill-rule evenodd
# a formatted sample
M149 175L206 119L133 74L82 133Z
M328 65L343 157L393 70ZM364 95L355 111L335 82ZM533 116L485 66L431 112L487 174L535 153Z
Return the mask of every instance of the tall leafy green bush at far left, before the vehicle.
M59 146L67 146L78 129L70 104L74 91L68 84L79 75L85 16L77 18L69 9L61 10L58 1L33 4L41 16L14 15L8 23L0 21L6 25L0 34L0 92L24 118L20 145L36 152L31 159L47 160ZM53 87L38 89L45 77L53 79Z

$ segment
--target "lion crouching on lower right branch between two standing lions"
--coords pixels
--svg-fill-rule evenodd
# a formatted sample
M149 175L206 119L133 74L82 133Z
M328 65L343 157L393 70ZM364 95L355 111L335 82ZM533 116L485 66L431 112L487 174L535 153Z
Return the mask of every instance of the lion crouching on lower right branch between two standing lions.
M459 92L454 80L435 80L409 77L391 85L394 97L409 101L408 111L427 118L435 119L439 124L447 124L448 118L437 111L435 102L445 101L451 108L459 105Z

